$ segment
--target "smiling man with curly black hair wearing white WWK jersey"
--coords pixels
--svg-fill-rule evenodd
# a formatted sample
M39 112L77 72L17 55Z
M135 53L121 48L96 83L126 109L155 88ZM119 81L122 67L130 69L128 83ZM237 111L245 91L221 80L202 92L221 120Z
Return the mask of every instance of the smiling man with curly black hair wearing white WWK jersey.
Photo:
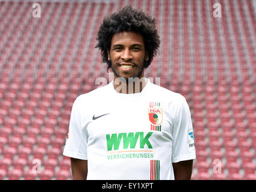
M73 103L63 152L73 179L190 179L186 99L144 76L160 44L155 19L126 6L104 18L97 40L114 79Z

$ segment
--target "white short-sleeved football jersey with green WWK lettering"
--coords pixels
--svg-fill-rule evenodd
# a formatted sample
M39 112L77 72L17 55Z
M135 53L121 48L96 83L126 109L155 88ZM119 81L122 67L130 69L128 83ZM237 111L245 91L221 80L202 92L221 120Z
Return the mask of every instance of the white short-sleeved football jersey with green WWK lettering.
M172 163L196 158L186 99L147 80L136 94L111 82L76 98L63 155L88 160L87 179L174 179Z

